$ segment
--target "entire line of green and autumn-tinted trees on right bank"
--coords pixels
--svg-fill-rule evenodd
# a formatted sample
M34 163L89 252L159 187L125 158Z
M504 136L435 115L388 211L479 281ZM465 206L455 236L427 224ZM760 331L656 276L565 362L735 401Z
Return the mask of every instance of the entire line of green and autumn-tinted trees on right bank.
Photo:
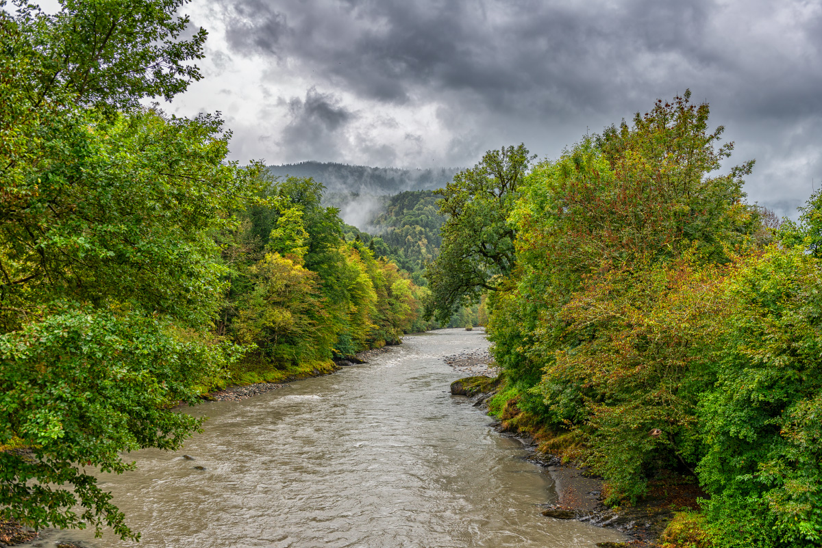
M686 93L556 160L488 153L444 190L429 312L487 295L492 409L609 503L673 472L713 546L820 546L822 194L781 226L747 204L708 116Z

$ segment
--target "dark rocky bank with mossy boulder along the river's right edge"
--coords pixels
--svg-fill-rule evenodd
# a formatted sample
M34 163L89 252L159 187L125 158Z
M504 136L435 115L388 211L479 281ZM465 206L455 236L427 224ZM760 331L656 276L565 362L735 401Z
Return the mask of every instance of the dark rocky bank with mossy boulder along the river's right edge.
M474 401L474 405L487 409L486 402L496 394L500 381L496 378L497 368L486 358L487 352L464 352L446 358L446 363L459 372L483 372L465 377L451 384L451 394L462 395ZM487 360L483 362L483 359ZM488 375L487 372L494 373ZM694 482L680 477L662 477L651 482L649 495L638 505L609 508L603 504L603 480L593 476L586 468L573 463L562 463L553 454L538 450L538 444L521 432L506 432L502 422L496 429L503 436L518 439L532 451L529 460L543 466L552 477L558 500L547 505L543 515L555 519L577 519L598 527L612 527L624 532L630 541L624 543L602 543L601 548L619 546L658 546L667 523L675 510L698 508L696 500L704 493Z

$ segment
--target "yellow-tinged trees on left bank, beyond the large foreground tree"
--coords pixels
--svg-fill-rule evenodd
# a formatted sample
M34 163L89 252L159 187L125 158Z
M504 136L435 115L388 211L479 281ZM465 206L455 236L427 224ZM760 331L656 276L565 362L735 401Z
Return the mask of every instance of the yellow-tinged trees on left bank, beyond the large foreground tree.
M362 241L346 242L312 179L269 180L224 234L231 289L219 329L255 344L255 363L284 369L399 342L418 327L421 288ZM424 329L425 326L422 326Z

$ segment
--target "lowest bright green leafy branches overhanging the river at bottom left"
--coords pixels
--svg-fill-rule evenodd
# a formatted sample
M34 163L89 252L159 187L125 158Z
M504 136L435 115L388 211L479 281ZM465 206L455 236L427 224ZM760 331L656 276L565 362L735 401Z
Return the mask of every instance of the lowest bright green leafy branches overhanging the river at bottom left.
M199 338L156 317L73 304L0 336L0 439L16 436L34 457L0 452L2 518L90 523L98 533L105 523L139 537L86 467L122 473L133 467L123 451L175 450L200 427L172 408L195 403L192 381L207 381L236 353Z

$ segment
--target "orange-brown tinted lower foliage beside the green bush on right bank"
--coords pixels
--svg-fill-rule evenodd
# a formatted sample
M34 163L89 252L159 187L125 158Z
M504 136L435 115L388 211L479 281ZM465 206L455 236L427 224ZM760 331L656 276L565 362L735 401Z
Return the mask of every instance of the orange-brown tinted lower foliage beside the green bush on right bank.
M694 473L696 405L715 381L703 358L725 312L715 296L722 279L722 270L686 260L613 271L561 312L569 331L589 338L556 352L541 388L551 399L563 382L580 386L586 459L620 496L643 495L649 471Z

